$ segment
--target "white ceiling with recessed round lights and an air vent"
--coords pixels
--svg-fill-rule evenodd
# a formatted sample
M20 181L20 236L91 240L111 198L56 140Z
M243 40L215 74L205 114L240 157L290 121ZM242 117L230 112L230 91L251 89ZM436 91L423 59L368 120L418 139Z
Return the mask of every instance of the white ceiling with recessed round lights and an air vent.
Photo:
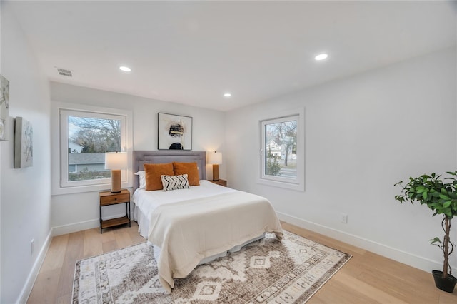
M455 1L1 5L13 10L51 81L220 111L456 44ZM328 59L315 61L323 52Z

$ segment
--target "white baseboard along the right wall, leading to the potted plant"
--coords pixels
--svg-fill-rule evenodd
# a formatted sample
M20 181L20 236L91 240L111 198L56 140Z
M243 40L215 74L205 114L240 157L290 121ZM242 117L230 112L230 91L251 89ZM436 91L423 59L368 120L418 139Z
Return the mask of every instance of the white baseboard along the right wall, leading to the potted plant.
M352 235L350 233L322 226L317 223L305 221L301 218L296 218L295 216L289 216L286 213L278 212L278 217L281 219L281 221L286 221L287 223L291 223L295 226L305 228L316 233L321 233L330 238L341 240L344 243L348 243L358 248L371 251L372 253L376 253L378 255L383 255L386 258L391 258L392 260L396 260L400 263L410 265L411 267L418 268L427 272L431 272L431 270L435 269L441 269L443 267L443 263L441 262L429 260L428 258L423 258L411 253L406 253L402 250L398 250L381 243L373 242L373 240L368 240L357 235ZM454 268L455 266L452 267Z

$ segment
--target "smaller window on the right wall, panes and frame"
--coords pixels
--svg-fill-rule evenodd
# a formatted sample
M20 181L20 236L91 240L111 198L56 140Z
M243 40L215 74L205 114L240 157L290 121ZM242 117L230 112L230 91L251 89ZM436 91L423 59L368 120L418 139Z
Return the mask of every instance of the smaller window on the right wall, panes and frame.
M260 122L260 183L304 190L303 113Z

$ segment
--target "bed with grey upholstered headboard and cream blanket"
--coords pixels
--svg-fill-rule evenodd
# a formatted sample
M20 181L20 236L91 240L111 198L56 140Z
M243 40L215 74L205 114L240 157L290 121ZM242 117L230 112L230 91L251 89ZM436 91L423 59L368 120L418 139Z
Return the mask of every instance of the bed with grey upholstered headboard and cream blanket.
M206 181L205 152L134 151L135 173L145 164L173 162L196 163L199 186L146 191L139 176L133 195L134 219L154 245L159 281L167 293L175 278L185 278L201 263L240 250L265 233L282 238L281 223L266 198Z

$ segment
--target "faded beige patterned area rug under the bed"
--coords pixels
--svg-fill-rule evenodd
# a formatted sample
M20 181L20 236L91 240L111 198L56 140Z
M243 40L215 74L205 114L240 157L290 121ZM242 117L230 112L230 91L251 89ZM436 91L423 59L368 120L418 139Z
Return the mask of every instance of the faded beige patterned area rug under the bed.
M351 255L284 231L176 279L165 295L152 247L76 262L73 303L305 303Z

